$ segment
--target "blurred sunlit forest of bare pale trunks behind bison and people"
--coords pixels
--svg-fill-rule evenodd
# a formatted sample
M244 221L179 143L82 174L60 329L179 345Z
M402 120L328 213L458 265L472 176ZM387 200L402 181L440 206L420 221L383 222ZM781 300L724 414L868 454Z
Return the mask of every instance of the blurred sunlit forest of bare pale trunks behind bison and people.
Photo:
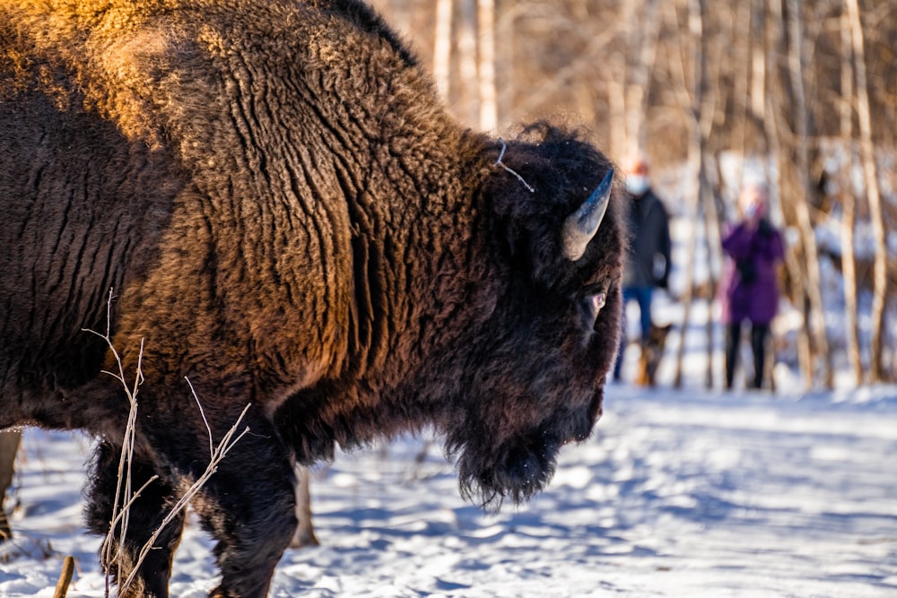
M685 273L686 306L714 296L738 187L765 180L788 227L785 289L803 318L806 386L832 387L835 352L857 385L897 374L897 0L373 4L468 126L581 123L614 160L640 151L655 173L674 171L682 204L667 207L701 222L691 243L706 243L715 264L707 282ZM843 276L834 324L821 263Z

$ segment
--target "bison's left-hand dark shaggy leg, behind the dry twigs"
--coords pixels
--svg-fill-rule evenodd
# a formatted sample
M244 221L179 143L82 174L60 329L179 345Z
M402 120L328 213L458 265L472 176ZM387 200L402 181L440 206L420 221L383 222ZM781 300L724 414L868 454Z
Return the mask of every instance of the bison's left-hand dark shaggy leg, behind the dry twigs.
M118 478L118 461L121 447L109 442L100 442L97 447L94 477L88 490L87 524L91 531L105 536L112 521L116 490L121 481ZM148 460L135 455L130 465L131 487L140 489L156 474ZM122 493L123 494L123 493ZM162 519L177 496L171 486L161 479L144 487L140 495L128 508L125 540L115 534L115 549L118 557L103 562L117 584L123 583L135 567L140 550L149 541L152 533L161 526ZM121 501L122 498L119 498ZM176 517L161 531L161 535L147 553L135 580L121 597L167 598L171 576L171 561L174 550L180 542L184 528L184 515ZM121 550L118 550L118 549Z

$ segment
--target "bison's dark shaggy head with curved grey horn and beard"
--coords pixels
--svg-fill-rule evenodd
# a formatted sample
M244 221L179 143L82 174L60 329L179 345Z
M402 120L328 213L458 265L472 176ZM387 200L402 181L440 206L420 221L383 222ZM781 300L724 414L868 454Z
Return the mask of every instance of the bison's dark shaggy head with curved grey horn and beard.
M612 165L576 135L525 134L536 139L496 148L482 190L488 266L469 298L481 318L451 351L461 362L440 372L459 397L444 419L448 453L462 492L487 507L541 490L559 448L588 438L621 329Z

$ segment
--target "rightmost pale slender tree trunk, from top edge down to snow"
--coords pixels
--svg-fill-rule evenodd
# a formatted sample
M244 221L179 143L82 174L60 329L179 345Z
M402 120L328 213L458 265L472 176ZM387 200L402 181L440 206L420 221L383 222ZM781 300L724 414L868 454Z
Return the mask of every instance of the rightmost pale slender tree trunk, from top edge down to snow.
M869 202L869 218L875 238L875 265L872 299L872 341L869 358L869 377L872 382L884 378L882 368L884 307L887 299L887 256L888 247L884 238L884 216L882 198L878 188L878 169L875 166L875 144L872 141L872 117L869 109L869 93L866 77L866 49L863 26L860 22L857 0L845 0L850 19L850 37L853 40L853 55L856 58L857 75L857 116L859 122L860 149L863 158L863 173L866 176L866 194Z

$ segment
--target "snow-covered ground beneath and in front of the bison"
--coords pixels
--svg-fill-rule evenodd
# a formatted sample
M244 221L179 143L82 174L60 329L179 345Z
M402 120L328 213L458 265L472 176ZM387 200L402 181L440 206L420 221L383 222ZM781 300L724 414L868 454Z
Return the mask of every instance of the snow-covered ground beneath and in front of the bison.
M897 387L832 394L614 385L551 486L483 514L421 439L315 472L316 548L283 558L273 596L897 596ZM0 595L102 596L81 524L83 436L28 430ZM191 524L172 596L215 584Z

